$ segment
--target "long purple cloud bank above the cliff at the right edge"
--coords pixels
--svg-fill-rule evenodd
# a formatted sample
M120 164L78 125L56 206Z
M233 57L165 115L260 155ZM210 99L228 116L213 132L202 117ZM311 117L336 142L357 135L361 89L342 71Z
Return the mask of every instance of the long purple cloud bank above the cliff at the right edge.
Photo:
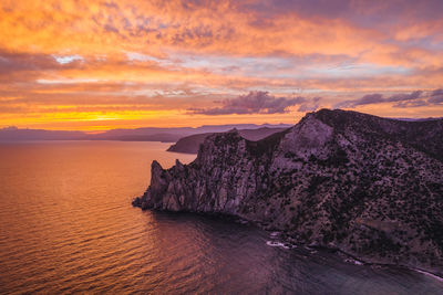
M423 91L414 91L411 93L400 93L388 97L382 94L367 94L359 99L344 101L334 105L336 108L349 107L354 108L361 105L373 105L395 103L393 107L420 107L443 104L443 89L435 89L424 93Z

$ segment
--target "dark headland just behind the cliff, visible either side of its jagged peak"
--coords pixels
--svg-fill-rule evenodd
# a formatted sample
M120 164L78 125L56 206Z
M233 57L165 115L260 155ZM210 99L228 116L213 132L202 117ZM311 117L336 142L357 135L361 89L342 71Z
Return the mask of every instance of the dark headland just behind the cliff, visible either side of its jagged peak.
M282 131L287 129L288 127L285 128L270 128L270 127L262 127L258 129L240 129L238 130L238 134L248 140L251 141L257 141L260 140L265 137L268 137L269 135L272 135L275 133ZM174 151L174 152L184 152L184 154L197 154L199 146L203 144L206 137L214 135L214 133L205 133L205 134L195 134L195 135L189 135L186 137L183 137L178 139L178 141L174 145L172 145L167 151Z

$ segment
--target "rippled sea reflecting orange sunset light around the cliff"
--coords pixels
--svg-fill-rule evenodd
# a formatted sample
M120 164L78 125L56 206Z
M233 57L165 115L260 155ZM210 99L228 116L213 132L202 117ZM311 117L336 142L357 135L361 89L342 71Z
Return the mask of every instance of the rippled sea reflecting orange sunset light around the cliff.
M0 294L443 294L443 282L359 265L254 224L142 211L134 197L195 155L168 144L0 144Z

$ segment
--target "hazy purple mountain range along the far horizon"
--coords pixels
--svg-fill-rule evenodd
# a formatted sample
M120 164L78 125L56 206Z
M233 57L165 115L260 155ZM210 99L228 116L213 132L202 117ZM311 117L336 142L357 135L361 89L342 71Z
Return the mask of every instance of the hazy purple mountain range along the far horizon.
M262 127L289 127L290 125L204 125L200 127L173 127L157 128L146 127L136 129L112 129L100 134L86 134L83 131L19 129L7 127L0 129L0 141L14 140L122 140L122 141L163 141L176 143L179 138L203 133L222 133L233 128L258 129Z

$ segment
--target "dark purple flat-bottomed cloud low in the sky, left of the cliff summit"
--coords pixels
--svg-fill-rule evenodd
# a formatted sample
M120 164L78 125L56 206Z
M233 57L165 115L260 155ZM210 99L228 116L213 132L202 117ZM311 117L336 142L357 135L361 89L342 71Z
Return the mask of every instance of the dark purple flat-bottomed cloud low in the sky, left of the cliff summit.
M218 102L220 107L213 108L188 108L190 114L203 115L229 115L229 114L282 114L293 105L305 103L306 98L299 96L293 98L276 97L268 92L249 92L236 98Z

